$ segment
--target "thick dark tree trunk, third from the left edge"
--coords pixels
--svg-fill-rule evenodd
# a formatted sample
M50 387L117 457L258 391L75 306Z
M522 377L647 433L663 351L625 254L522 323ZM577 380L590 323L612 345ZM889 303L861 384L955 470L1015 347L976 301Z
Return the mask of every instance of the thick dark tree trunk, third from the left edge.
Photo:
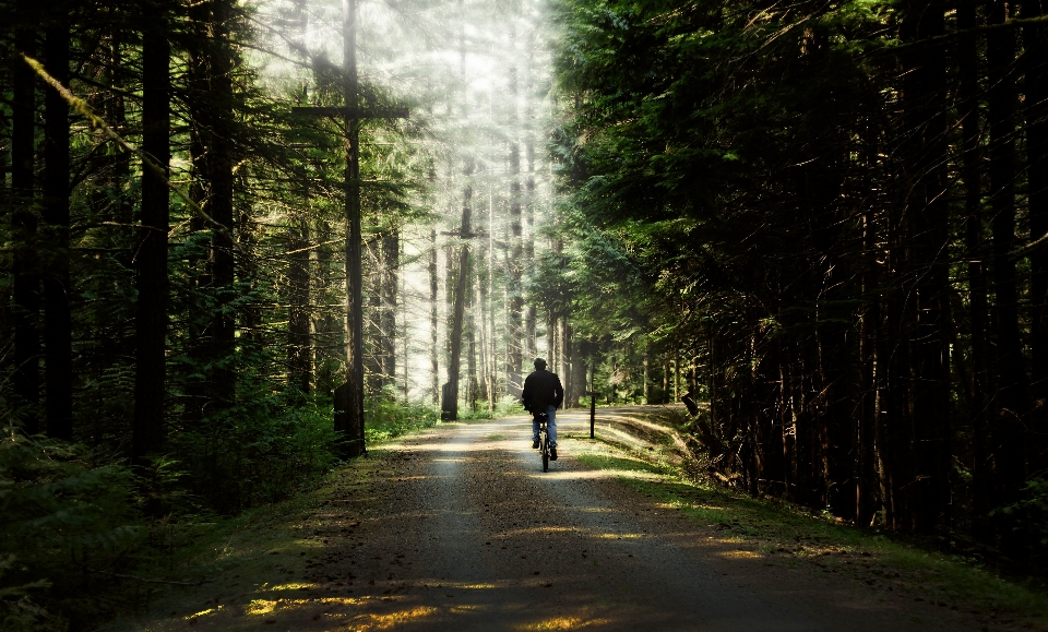
M135 255L139 291L135 315L134 424L131 460L143 464L159 452L165 434L167 348L167 182L170 150L170 44L163 27L142 35L142 151L162 170L142 166L142 229Z

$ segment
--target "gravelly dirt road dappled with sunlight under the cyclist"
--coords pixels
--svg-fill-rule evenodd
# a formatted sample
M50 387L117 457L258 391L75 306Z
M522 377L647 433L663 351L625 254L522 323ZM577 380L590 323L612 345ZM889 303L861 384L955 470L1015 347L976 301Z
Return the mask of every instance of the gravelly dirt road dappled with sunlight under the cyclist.
M347 484L303 527L313 546L312 557L301 558L312 560L303 576L224 597L222 608L189 624L296 631L981 629L962 612L819 575L814 567L769 565L759 552L718 537L713 525L585 467L574 458L583 445L571 436L588 433L587 417L568 413L559 422L561 458L546 474L523 416L437 429L383 448L381 469ZM186 625L188 617L180 619Z

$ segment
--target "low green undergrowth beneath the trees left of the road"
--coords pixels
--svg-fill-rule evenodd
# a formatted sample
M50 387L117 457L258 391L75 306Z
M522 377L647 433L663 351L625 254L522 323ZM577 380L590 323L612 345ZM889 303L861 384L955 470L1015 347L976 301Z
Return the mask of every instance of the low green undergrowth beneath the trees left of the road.
M168 453L133 470L102 449L8 428L0 438L0 630L90 630L144 606L151 580L194 576L183 563L216 515L285 499L337 464L329 397L241 389L243 404L193 427L172 424ZM370 442L440 419L421 404L377 400L367 410Z

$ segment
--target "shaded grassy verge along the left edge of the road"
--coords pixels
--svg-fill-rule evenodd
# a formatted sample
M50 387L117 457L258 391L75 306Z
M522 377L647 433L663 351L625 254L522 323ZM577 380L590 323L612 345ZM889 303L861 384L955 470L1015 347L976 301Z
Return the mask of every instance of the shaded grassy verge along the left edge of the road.
M326 517L329 508L349 494L355 498L354 506L364 511L384 502L369 490L372 482L389 478L396 466L382 444L436 426L446 426L439 414L419 414L415 419L407 415L372 417L368 456L340 464L312 489L233 517L178 525L178 546L172 547L167 568L157 574L187 585L144 582L143 589L148 592L142 599L144 610L126 612L102 630L180 630L238 600L296 596L306 585L309 564L325 555L323 538L333 528Z

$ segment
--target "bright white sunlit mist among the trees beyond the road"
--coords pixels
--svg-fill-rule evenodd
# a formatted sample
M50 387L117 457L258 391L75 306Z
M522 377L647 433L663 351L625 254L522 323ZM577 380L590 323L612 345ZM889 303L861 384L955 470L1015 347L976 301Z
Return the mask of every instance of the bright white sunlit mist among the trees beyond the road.
M323 105L324 77L317 67L334 64L340 55L340 12L337 2L260 7L259 20L271 23L263 29L271 34L269 46L302 58L291 64L260 55L263 79L299 92L303 105ZM458 265L468 249L462 326L471 342L461 351L461 396L469 392L471 406L493 407L520 391L520 369L513 378L505 374L508 354L520 365L521 358L529 363L549 353L549 310L527 281L558 240L553 167L545 151L556 120L552 25L537 2L362 3L357 28L364 82L412 111L396 123L394 133L407 134L397 146L384 148L391 130L376 129L361 141L361 155L414 169L401 171L407 182L376 179L377 195L383 194L380 182L405 189L396 207L381 208L385 201L376 199L376 207L365 208L373 236L365 263L373 294L382 293L377 284L389 258L382 249L390 242L380 235L395 232L400 249L392 282L398 284L396 305L372 296L374 309L366 315L369 342L395 338L395 350L392 358L372 351L369 373L383 375L373 380L380 390L439 402L449 380ZM368 199L369 191L362 195ZM467 204L473 231L463 238ZM393 319L381 322L376 310L391 311Z

